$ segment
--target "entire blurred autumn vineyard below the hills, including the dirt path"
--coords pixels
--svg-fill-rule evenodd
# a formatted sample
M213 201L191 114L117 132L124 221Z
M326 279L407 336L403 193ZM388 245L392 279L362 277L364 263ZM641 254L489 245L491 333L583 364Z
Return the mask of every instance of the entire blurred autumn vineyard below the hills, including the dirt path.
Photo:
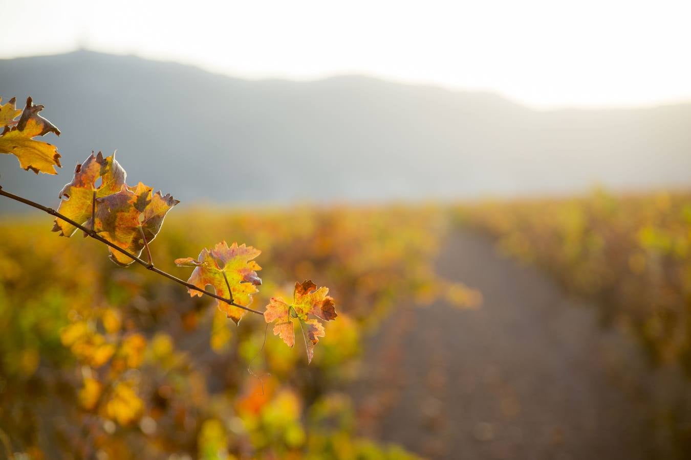
M79 233L6 214L3 445L30 458L685 458L690 201L598 190L171 213L151 243L162 270L186 277L176 258L225 239L263 250L253 308L293 279L330 286L339 318L309 365L299 329L288 348L261 317L235 326Z

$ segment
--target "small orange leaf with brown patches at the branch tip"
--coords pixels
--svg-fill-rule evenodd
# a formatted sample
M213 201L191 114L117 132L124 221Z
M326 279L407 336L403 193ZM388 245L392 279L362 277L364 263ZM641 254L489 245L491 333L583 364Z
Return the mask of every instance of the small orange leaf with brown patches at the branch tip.
M319 337L324 337L322 324L316 319L309 319L308 315L312 314L325 321L331 321L338 316L334 308L334 299L328 293L329 288L317 288L310 280L295 283L292 305L285 303L280 297L272 297L264 312L264 320L267 323L276 321L274 335L281 337L290 347L295 345L292 320L296 318L300 321L303 337L304 334L307 336L304 338L308 363L312 362L314 346L319 342Z

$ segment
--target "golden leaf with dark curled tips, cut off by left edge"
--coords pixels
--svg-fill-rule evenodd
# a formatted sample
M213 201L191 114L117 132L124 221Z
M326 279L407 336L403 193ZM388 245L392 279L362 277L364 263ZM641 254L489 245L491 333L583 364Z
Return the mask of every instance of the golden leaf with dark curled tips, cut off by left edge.
M12 103L12 101L10 101ZM0 119L7 119L15 113L14 103L3 106ZM10 106L9 108L6 108ZM33 138L54 132L58 136L60 131L53 123L39 115L44 106L35 106L31 98L26 99L26 107L21 112L17 126L10 128L9 121L3 123L3 131L0 133L0 153L13 154L19 159L19 166L25 170L32 170L36 174L57 174L55 166L60 168L60 154L57 148L49 143L35 141ZM15 113L16 117L16 113Z

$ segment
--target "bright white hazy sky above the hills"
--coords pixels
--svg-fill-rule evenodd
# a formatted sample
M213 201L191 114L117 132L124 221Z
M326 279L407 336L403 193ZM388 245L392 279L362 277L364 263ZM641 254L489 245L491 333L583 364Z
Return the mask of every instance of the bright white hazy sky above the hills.
M0 7L0 57L81 46L238 77L361 73L491 90L545 108L691 99L689 0L0 0Z

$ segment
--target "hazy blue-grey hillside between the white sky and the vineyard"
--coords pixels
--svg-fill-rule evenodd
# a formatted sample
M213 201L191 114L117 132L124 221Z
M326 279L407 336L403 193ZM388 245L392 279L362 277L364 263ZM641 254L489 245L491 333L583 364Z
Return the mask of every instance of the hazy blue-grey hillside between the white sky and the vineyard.
M246 81L79 51L0 60L63 132L57 177L0 155L1 183L44 203L91 150L184 202L424 199L691 185L691 105L538 112L493 94L368 77ZM0 210L8 203L0 201Z

